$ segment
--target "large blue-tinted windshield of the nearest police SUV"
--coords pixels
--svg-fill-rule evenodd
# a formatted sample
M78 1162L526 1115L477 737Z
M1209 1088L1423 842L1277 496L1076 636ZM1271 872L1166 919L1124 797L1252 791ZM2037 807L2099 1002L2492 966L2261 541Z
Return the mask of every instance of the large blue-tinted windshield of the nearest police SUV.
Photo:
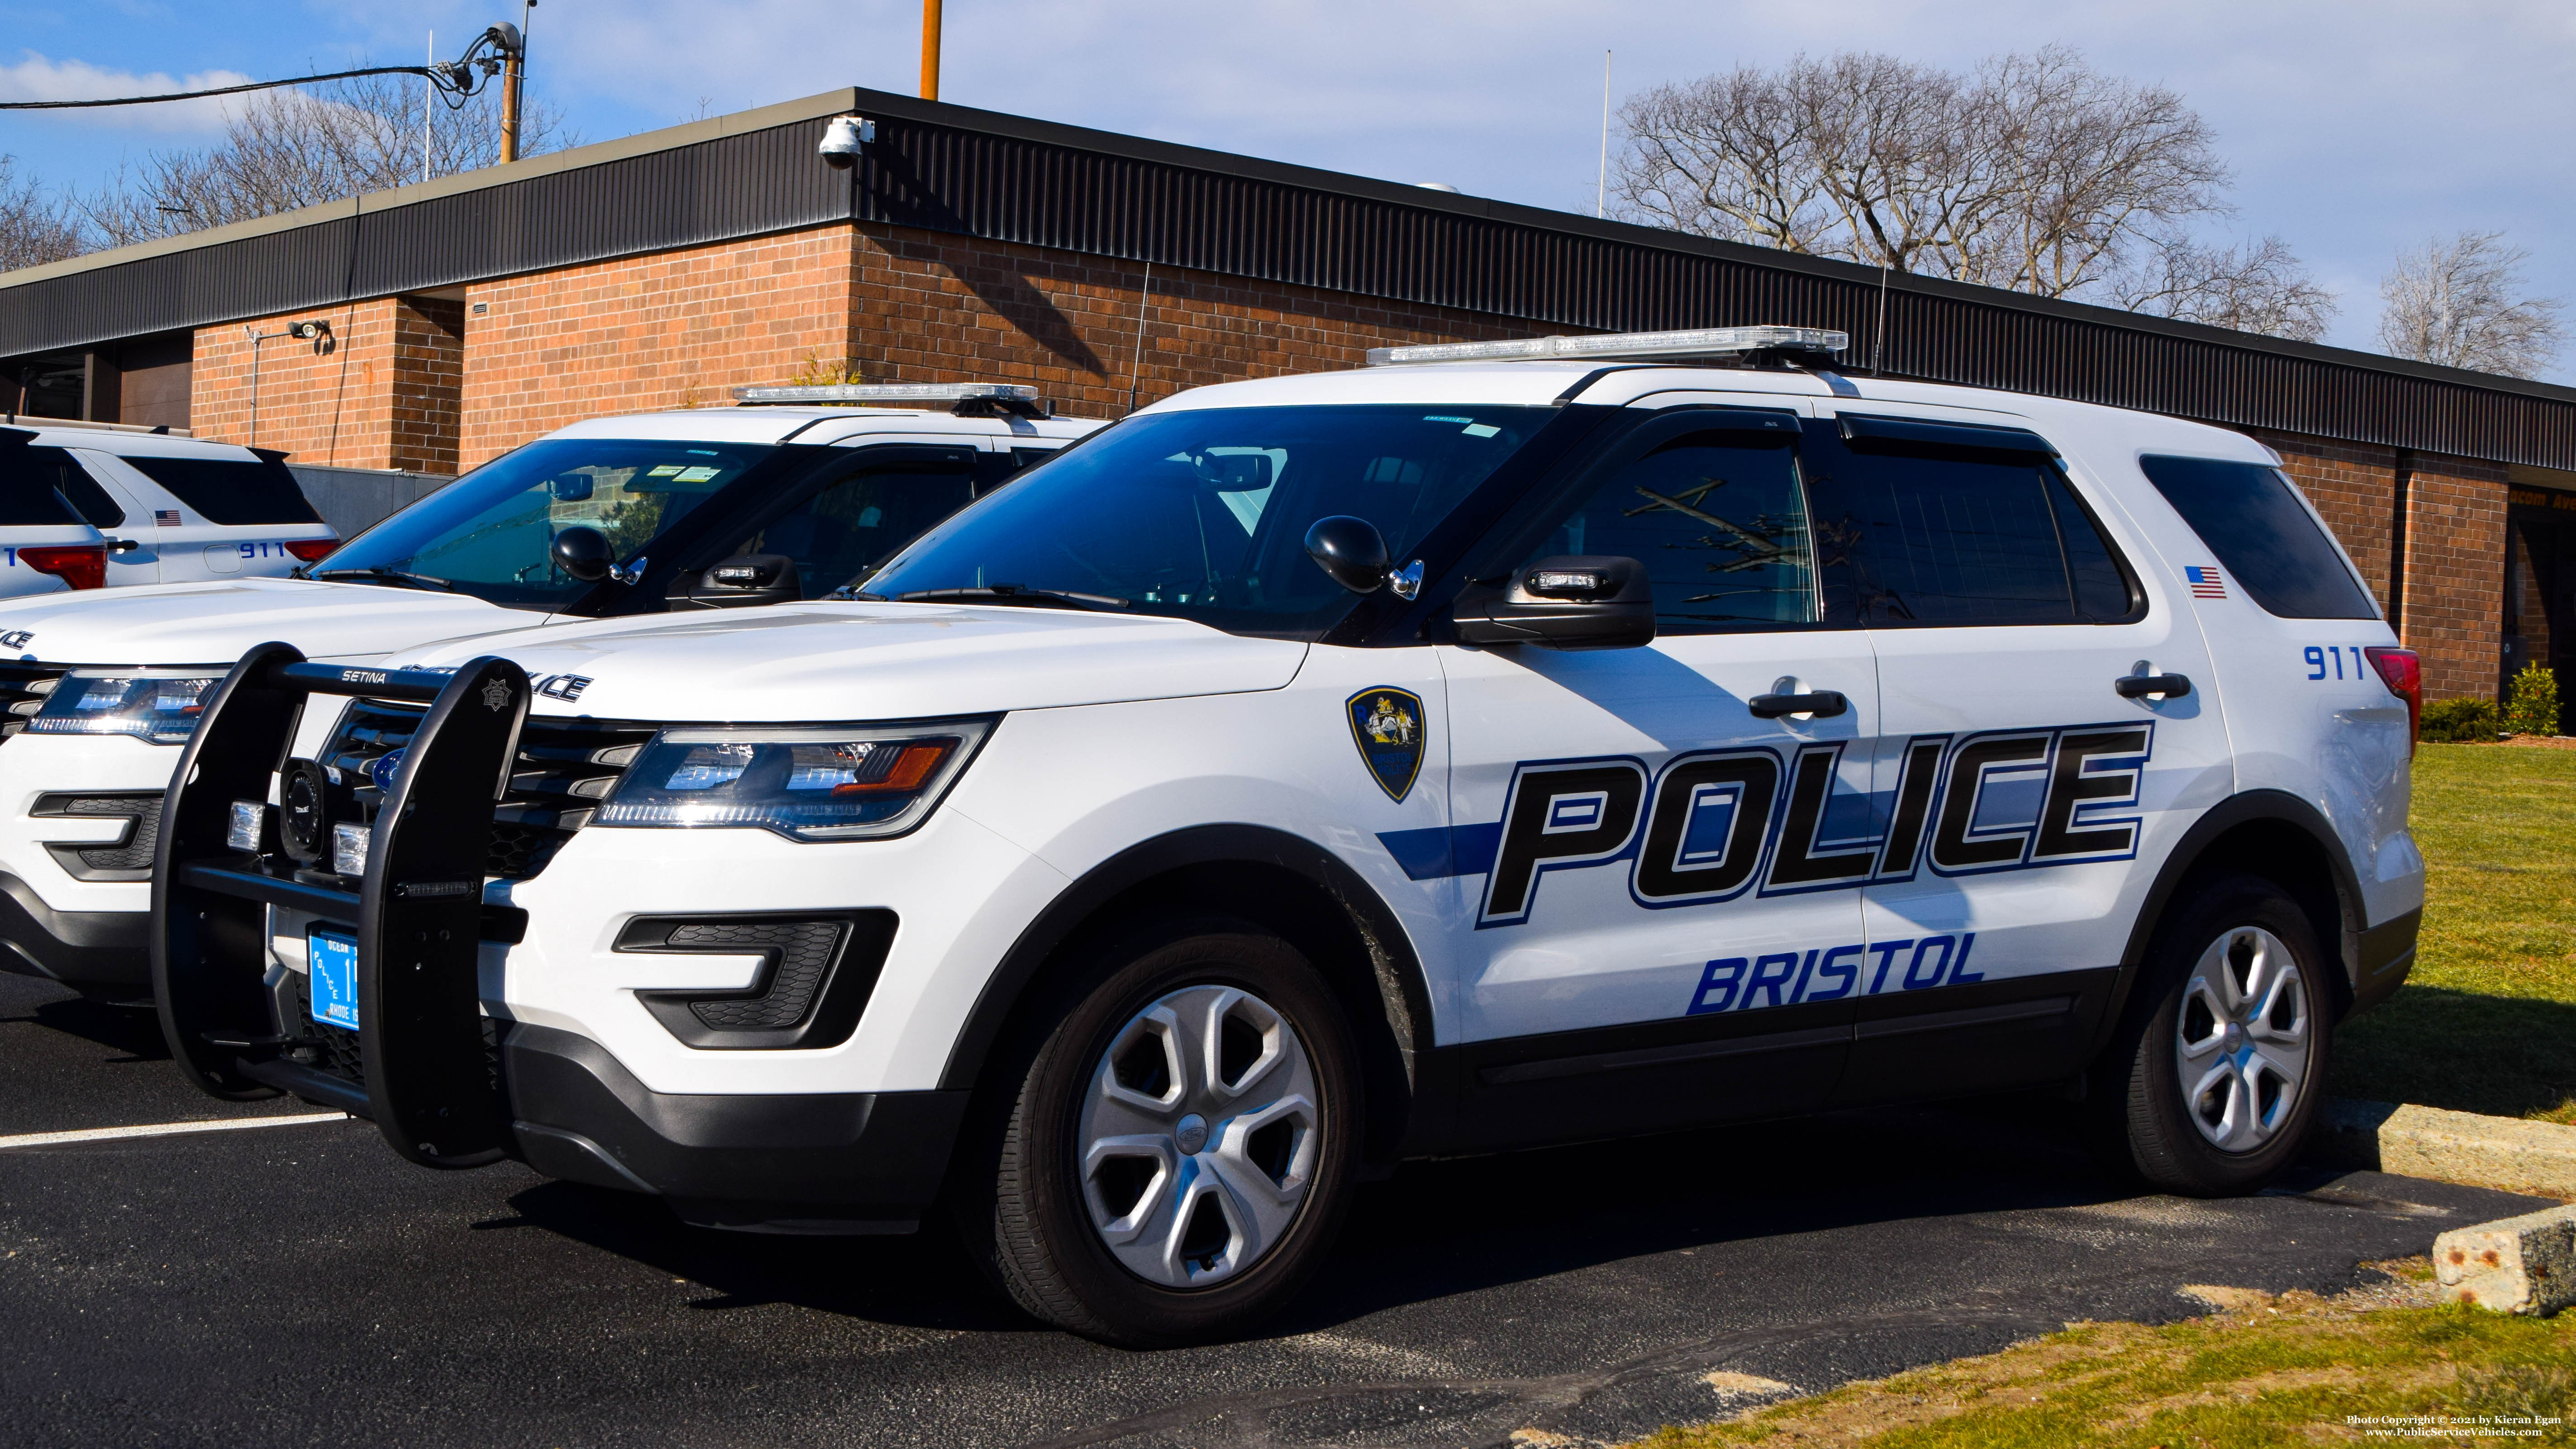
M1319 517L1365 517L1404 564L1551 417L1419 404L1146 414L976 502L858 587L881 600L999 589L1311 636L1355 597L1306 556Z

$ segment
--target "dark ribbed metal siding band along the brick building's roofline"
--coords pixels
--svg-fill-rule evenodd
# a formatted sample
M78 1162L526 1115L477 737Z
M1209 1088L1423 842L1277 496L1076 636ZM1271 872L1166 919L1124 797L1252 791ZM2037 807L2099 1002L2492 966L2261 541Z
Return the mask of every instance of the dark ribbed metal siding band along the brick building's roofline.
M1886 371L2313 438L2576 468L2576 391L2362 358L1419 193L1244 157L858 93L853 172L822 121L672 147L358 219L0 291L0 355L270 317L397 291L824 221L1195 268L1569 329L1785 322Z

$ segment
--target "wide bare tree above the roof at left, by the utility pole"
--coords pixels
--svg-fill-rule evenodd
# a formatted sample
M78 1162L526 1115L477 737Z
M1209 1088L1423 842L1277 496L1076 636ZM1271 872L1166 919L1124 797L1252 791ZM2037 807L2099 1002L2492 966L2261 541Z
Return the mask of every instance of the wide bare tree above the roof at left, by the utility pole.
M224 139L201 152L155 152L80 201L108 245L178 237L299 206L389 190L428 175L500 162L497 95L422 116L420 85L368 75L307 90L270 90L227 113ZM528 106L520 154L572 144L562 116Z

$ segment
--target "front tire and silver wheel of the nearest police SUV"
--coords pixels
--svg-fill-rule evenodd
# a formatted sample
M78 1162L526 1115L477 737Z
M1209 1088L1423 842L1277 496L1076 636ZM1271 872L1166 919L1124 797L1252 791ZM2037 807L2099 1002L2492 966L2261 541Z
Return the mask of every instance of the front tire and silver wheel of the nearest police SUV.
M1028 1037L999 1058L961 1212L1020 1307L1151 1349L1239 1333L1306 1284L1350 1202L1360 1071L1296 947L1224 916L1157 921Z

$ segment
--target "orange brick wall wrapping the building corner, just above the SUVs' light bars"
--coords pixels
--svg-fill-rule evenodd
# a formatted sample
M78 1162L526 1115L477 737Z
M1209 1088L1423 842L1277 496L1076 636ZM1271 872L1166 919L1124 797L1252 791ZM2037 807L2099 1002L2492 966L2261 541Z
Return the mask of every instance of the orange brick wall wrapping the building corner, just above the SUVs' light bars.
M1077 417L1180 389L1350 368L1368 347L1528 324L1216 273L814 226L466 291L464 466L608 412L716 407L744 383L1015 381ZM1136 322L1144 311L1139 368ZM474 309L482 311L474 311Z

